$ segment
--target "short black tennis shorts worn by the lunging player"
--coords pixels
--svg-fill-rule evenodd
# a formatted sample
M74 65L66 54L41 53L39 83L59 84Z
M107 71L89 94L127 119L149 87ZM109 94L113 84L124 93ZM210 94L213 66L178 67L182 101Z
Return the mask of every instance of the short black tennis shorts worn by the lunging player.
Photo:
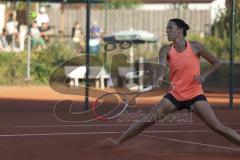
M167 98L168 100L170 100L178 110L182 110L182 109L191 109L191 105L194 104L197 101L207 101L207 98L204 95L198 95L190 100L186 100L186 101L179 101L177 100L173 95L171 95L170 93L166 94L164 96L164 98Z

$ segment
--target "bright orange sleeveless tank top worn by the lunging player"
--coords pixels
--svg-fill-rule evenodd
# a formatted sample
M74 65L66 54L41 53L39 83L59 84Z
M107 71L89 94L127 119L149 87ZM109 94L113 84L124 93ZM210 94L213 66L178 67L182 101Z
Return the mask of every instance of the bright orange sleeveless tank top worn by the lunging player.
M187 41L186 49L178 53L173 44L168 54L170 67L170 89L177 100L190 100L203 94L202 85L195 79L195 75L200 75L200 57L195 54Z

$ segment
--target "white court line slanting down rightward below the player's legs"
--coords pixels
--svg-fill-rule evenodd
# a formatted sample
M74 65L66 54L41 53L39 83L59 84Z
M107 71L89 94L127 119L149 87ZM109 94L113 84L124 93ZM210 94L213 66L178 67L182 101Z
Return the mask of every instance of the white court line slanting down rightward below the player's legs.
M225 149L225 150L231 150L231 151L238 151L238 152L240 152L240 149L238 149L238 148L224 147L224 146L205 144L205 143L198 143L198 142L192 142L192 141L184 141L184 140L173 139L173 138L166 138L166 137L159 137L159 136L151 136L151 135L146 135L146 134L140 134L140 135L144 136L144 137L152 138L152 139L167 140L167 141L173 141L173 142L179 142L179 143L186 143L186 144L204 146L204 147L209 147L209 148L218 148L218 149Z

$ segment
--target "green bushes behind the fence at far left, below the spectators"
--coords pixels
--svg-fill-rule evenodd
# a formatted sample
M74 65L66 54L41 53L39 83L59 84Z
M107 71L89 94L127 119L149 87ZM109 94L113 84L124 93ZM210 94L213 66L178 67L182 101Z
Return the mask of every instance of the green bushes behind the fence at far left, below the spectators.
M53 41L46 49L31 53L33 83L48 83L51 72L78 53L61 41ZM24 83L27 70L27 52L0 53L0 84Z

